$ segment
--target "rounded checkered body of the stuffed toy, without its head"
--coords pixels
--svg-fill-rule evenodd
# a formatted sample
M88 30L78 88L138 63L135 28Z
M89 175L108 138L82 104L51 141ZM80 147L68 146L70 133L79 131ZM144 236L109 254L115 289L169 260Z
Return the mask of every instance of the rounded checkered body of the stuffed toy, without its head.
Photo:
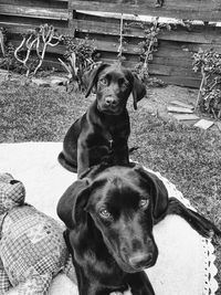
M56 275L69 257L63 228L31 206L17 207L6 217L0 253L13 286L32 275Z

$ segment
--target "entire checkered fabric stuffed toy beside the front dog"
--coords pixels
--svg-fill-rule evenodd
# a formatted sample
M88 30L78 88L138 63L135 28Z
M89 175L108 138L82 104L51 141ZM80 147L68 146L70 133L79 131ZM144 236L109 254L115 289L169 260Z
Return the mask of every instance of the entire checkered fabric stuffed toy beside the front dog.
M23 204L24 192L20 181L0 175L0 295L18 285L22 295L48 294L52 278L70 256L64 228Z

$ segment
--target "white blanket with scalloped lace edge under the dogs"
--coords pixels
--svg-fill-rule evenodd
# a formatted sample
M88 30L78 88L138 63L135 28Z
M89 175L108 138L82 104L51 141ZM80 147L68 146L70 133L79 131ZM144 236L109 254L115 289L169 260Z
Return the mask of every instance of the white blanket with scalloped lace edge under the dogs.
M0 172L10 172L21 180L27 189L27 202L55 219L60 197L76 180L76 175L66 171L57 162L61 150L61 143L0 144ZM172 183L158 176L165 182L170 197L177 197L189 206ZM159 256L156 265L147 270L147 274L156 295L215 293L215 257L209 240L202 239L186 221L176 215L167 217L157 224L154 235ZM72 282L61 275L54 280L51 294L62 294L60 286L65 295L77 294L76 288L71 292L74 287Z

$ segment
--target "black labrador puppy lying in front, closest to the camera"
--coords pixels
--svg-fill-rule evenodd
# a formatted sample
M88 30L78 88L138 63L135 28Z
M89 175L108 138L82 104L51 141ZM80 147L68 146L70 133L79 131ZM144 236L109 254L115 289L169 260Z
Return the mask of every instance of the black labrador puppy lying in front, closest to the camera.
M203 236L221 232L176 198L138 165L95 167L62 196L57 214L75 265L80 295L124 292L154 295L144 272L158 249L152 226L166 214L182 217ZM172 242L172 241L171 241Z

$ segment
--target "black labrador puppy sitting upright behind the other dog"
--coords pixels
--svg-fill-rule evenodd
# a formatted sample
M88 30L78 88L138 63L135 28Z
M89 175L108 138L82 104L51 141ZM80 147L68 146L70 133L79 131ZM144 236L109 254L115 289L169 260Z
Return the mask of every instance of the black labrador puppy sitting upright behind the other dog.
M94 70L86 93L96 88L96 99L67 130L60 164L78 176L87 168L106 161L126 165L128 158L129 116L126 108L130 94L134 108L146 94L136 75L118 64L102 64Z

